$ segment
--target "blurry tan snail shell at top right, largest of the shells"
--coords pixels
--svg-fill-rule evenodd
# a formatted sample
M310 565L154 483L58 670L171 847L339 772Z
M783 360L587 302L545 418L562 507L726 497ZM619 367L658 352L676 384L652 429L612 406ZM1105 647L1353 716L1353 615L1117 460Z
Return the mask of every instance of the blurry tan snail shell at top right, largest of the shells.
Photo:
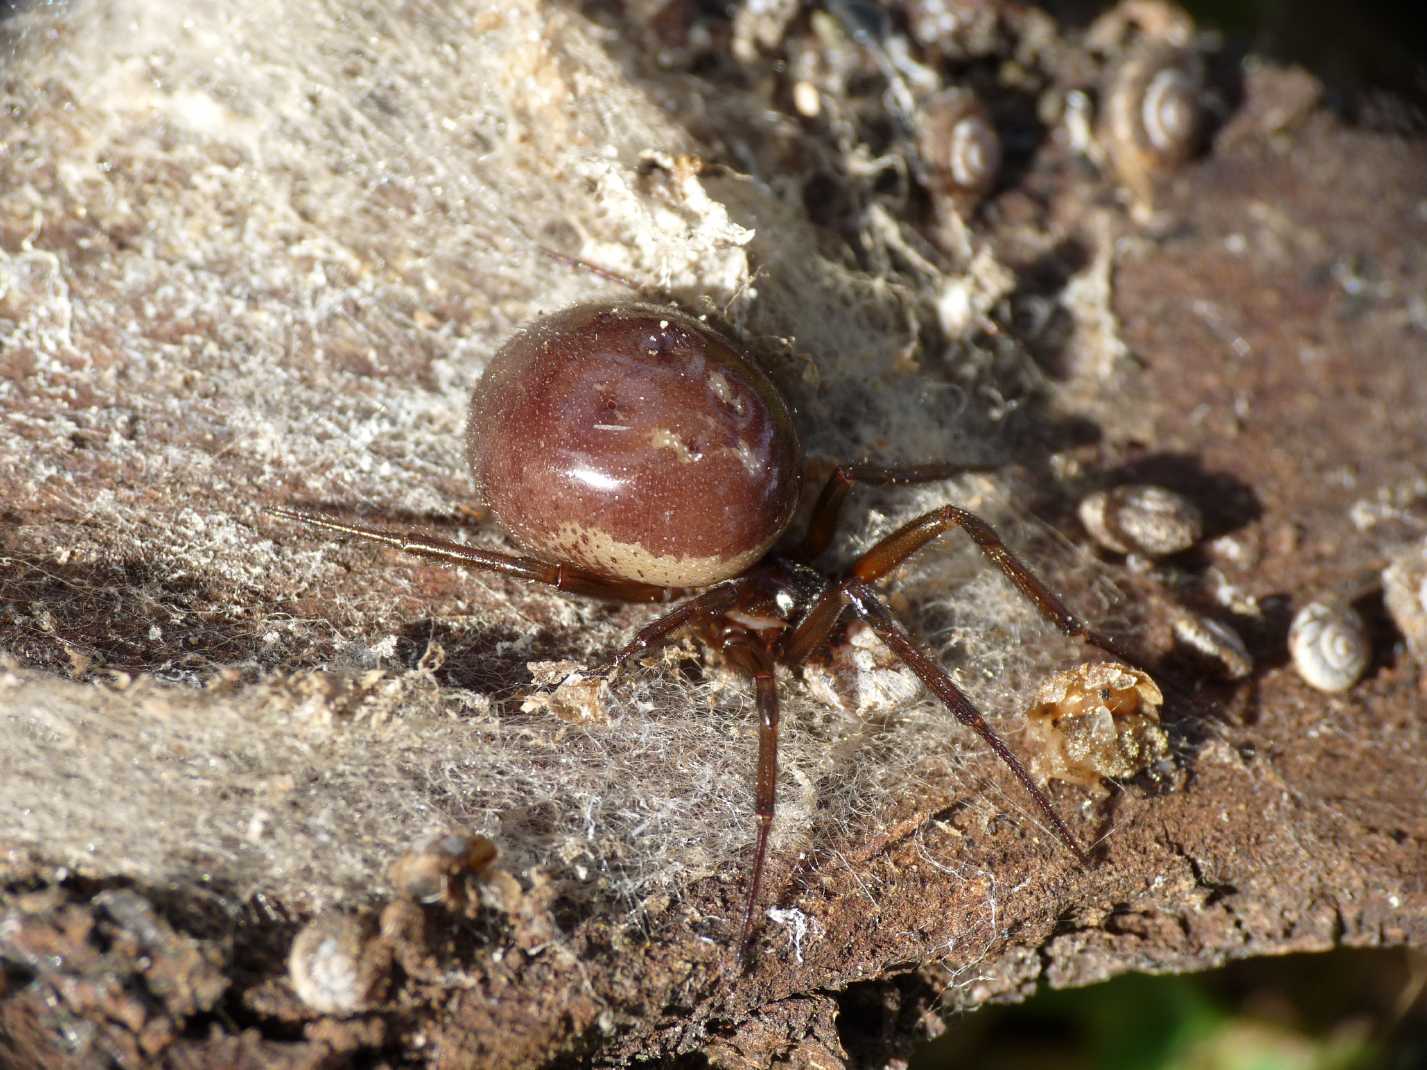
M1203 63L1164 41L1133 49L1106 90L1103 141L1120 181L1149 201L1154 178L1184 164L1199 148Z

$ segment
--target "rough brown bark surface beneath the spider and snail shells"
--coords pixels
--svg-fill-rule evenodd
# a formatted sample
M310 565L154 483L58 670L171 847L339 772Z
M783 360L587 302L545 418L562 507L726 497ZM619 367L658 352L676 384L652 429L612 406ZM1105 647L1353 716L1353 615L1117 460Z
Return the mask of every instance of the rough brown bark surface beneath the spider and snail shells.
M692 43L679 6L651 37L535 4L277 10L4 23L0 1064L879 1064L938 1007L1042 982L1427 946L1427 676L1364 584L1427 529L1420 141L1250 61L1153 218L1047 127L938 253L859 141L880 90L769 110L765 51L878 76L776 6ZM1039 16L965 49L1042 96L1096 61ZM532 234L711 295L821 462L1015 462L855 526L970 499L1143 655L1174 772L1053 788L1095 866L895 676L843 709L789 678L778 910L745 969L752 736L715 665L646 668L608 725L522 712L529 663L592 663L642 611L261 514L458 528L468 382L515 324L608 292ZM1045 538L1083 542L1076 496L1124 481L1199 502L1204 545L1137 571ZM900 608L1016 736L1077 652L949 558ZM1287 661L1321 592L1370 621L1343 695ZM1243 633L1247 679L1173 648L1182 608ZM388 863L455 829L497 866L402 899ZM288 979L332 912L357 919L345 1016Z

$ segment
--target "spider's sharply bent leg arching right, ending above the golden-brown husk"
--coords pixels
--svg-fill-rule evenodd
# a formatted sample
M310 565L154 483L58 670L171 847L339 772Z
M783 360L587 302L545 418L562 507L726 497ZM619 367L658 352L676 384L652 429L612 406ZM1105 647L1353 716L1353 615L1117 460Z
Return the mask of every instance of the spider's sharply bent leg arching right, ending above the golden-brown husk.
M1000 541L1000 536L986 521L955 505L943 505L939 509L932 509L932 512L918 516L915 521L892 532L858 558L849 569L849 575L863 582L880 579L950 528L960 528L970 535L977 549L1002 571L1006 579L1015 584L1016 589L1040 611L1042 616L1062 632L1075 639L1082 639L1092 646L1099 646L1106 653L1129 665L1134 665L1134 659L1120 651L1112 639L1093 631L1085 621L1066 609L1065 602L1052 593L1050 588L1037 579L1015 554L1006 549L1006 544Z

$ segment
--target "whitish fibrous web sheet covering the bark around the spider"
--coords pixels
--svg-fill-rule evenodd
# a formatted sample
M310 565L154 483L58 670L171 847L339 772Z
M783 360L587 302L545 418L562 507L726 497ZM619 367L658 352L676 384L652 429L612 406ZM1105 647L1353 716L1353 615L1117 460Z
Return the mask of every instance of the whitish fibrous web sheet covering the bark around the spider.
M598 716L522 712L528 663L598 669L654 612L263 509L355 504L505 546L458 512L471 385L518 325L628 297L541 245L728 320L813 458L999 461L982 402L1017 395L1019 357L918 315L1006 267L989 250L965 275L823 258L766 183L681 163L692 136L564 6L114 0L0 31L0 322L23 368L0 377L0 574L21 591L3 612L23 639L0 651L0 862L234 910L261 895L294 917L391 895L391 862L451 829L621 909L741 879L756 716L715 658L629 665ZM708 107L762 128L739 113L761 103ZM900 263L892 237L865 235L875 261ZM1017 496L1009 475L859 489L835 552L955 501L1103 618L1096 565ZM1065 659L956 534L893 579L993 723ZM444 665L422 659L437 646ZM995 765L923 692L873 709L783 688L775 852ZM975 805L1029 820L1015 792Z

